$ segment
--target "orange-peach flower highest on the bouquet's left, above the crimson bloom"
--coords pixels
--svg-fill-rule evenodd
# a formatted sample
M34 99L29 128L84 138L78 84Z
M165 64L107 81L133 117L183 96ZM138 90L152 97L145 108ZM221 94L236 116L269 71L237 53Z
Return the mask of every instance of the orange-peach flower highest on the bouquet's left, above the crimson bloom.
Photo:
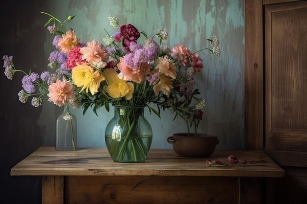
M59 39L58 46L59 50L63 53L68 53L73 46L79 44L79 39L77 39L75 31L69 30L66 34L62 35L62 38Z

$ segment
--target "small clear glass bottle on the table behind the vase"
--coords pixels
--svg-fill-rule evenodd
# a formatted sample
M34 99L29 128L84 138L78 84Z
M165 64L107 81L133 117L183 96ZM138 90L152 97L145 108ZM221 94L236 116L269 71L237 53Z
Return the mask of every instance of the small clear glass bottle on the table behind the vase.
M77 118L66 107L56 119L55 150L77 150Z

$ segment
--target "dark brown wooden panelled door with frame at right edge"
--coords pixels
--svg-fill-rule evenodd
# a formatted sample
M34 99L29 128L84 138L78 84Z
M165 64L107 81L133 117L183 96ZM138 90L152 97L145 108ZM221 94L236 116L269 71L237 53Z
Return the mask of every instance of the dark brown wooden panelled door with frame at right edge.
M245 53L246 148L286 173L264 203L307 204L307 1L246 0Z

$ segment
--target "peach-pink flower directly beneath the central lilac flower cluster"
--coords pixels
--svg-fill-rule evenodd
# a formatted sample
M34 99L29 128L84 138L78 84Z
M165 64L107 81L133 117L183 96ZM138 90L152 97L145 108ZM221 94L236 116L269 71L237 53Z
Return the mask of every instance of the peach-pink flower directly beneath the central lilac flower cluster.
M149 71L147 64L143 64L138 69L133 70L125 64L125 58L120 57L119 60L120 63L117 64L117 67L121 71L121 73L118 74L120 79L134 81L136 83L142 83L145 80L145 73Z

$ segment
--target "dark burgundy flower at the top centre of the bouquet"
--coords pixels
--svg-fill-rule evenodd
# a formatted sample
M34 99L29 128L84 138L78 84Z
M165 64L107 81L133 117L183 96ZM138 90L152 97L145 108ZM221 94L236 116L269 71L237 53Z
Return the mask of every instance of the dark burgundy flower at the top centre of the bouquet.
M131 24L122 25L120 31L120 33L115 35L114 40L119 43L121 42L122 37L124 37L124 45L128 47L132 41L136 41L141 36L136 27Z

